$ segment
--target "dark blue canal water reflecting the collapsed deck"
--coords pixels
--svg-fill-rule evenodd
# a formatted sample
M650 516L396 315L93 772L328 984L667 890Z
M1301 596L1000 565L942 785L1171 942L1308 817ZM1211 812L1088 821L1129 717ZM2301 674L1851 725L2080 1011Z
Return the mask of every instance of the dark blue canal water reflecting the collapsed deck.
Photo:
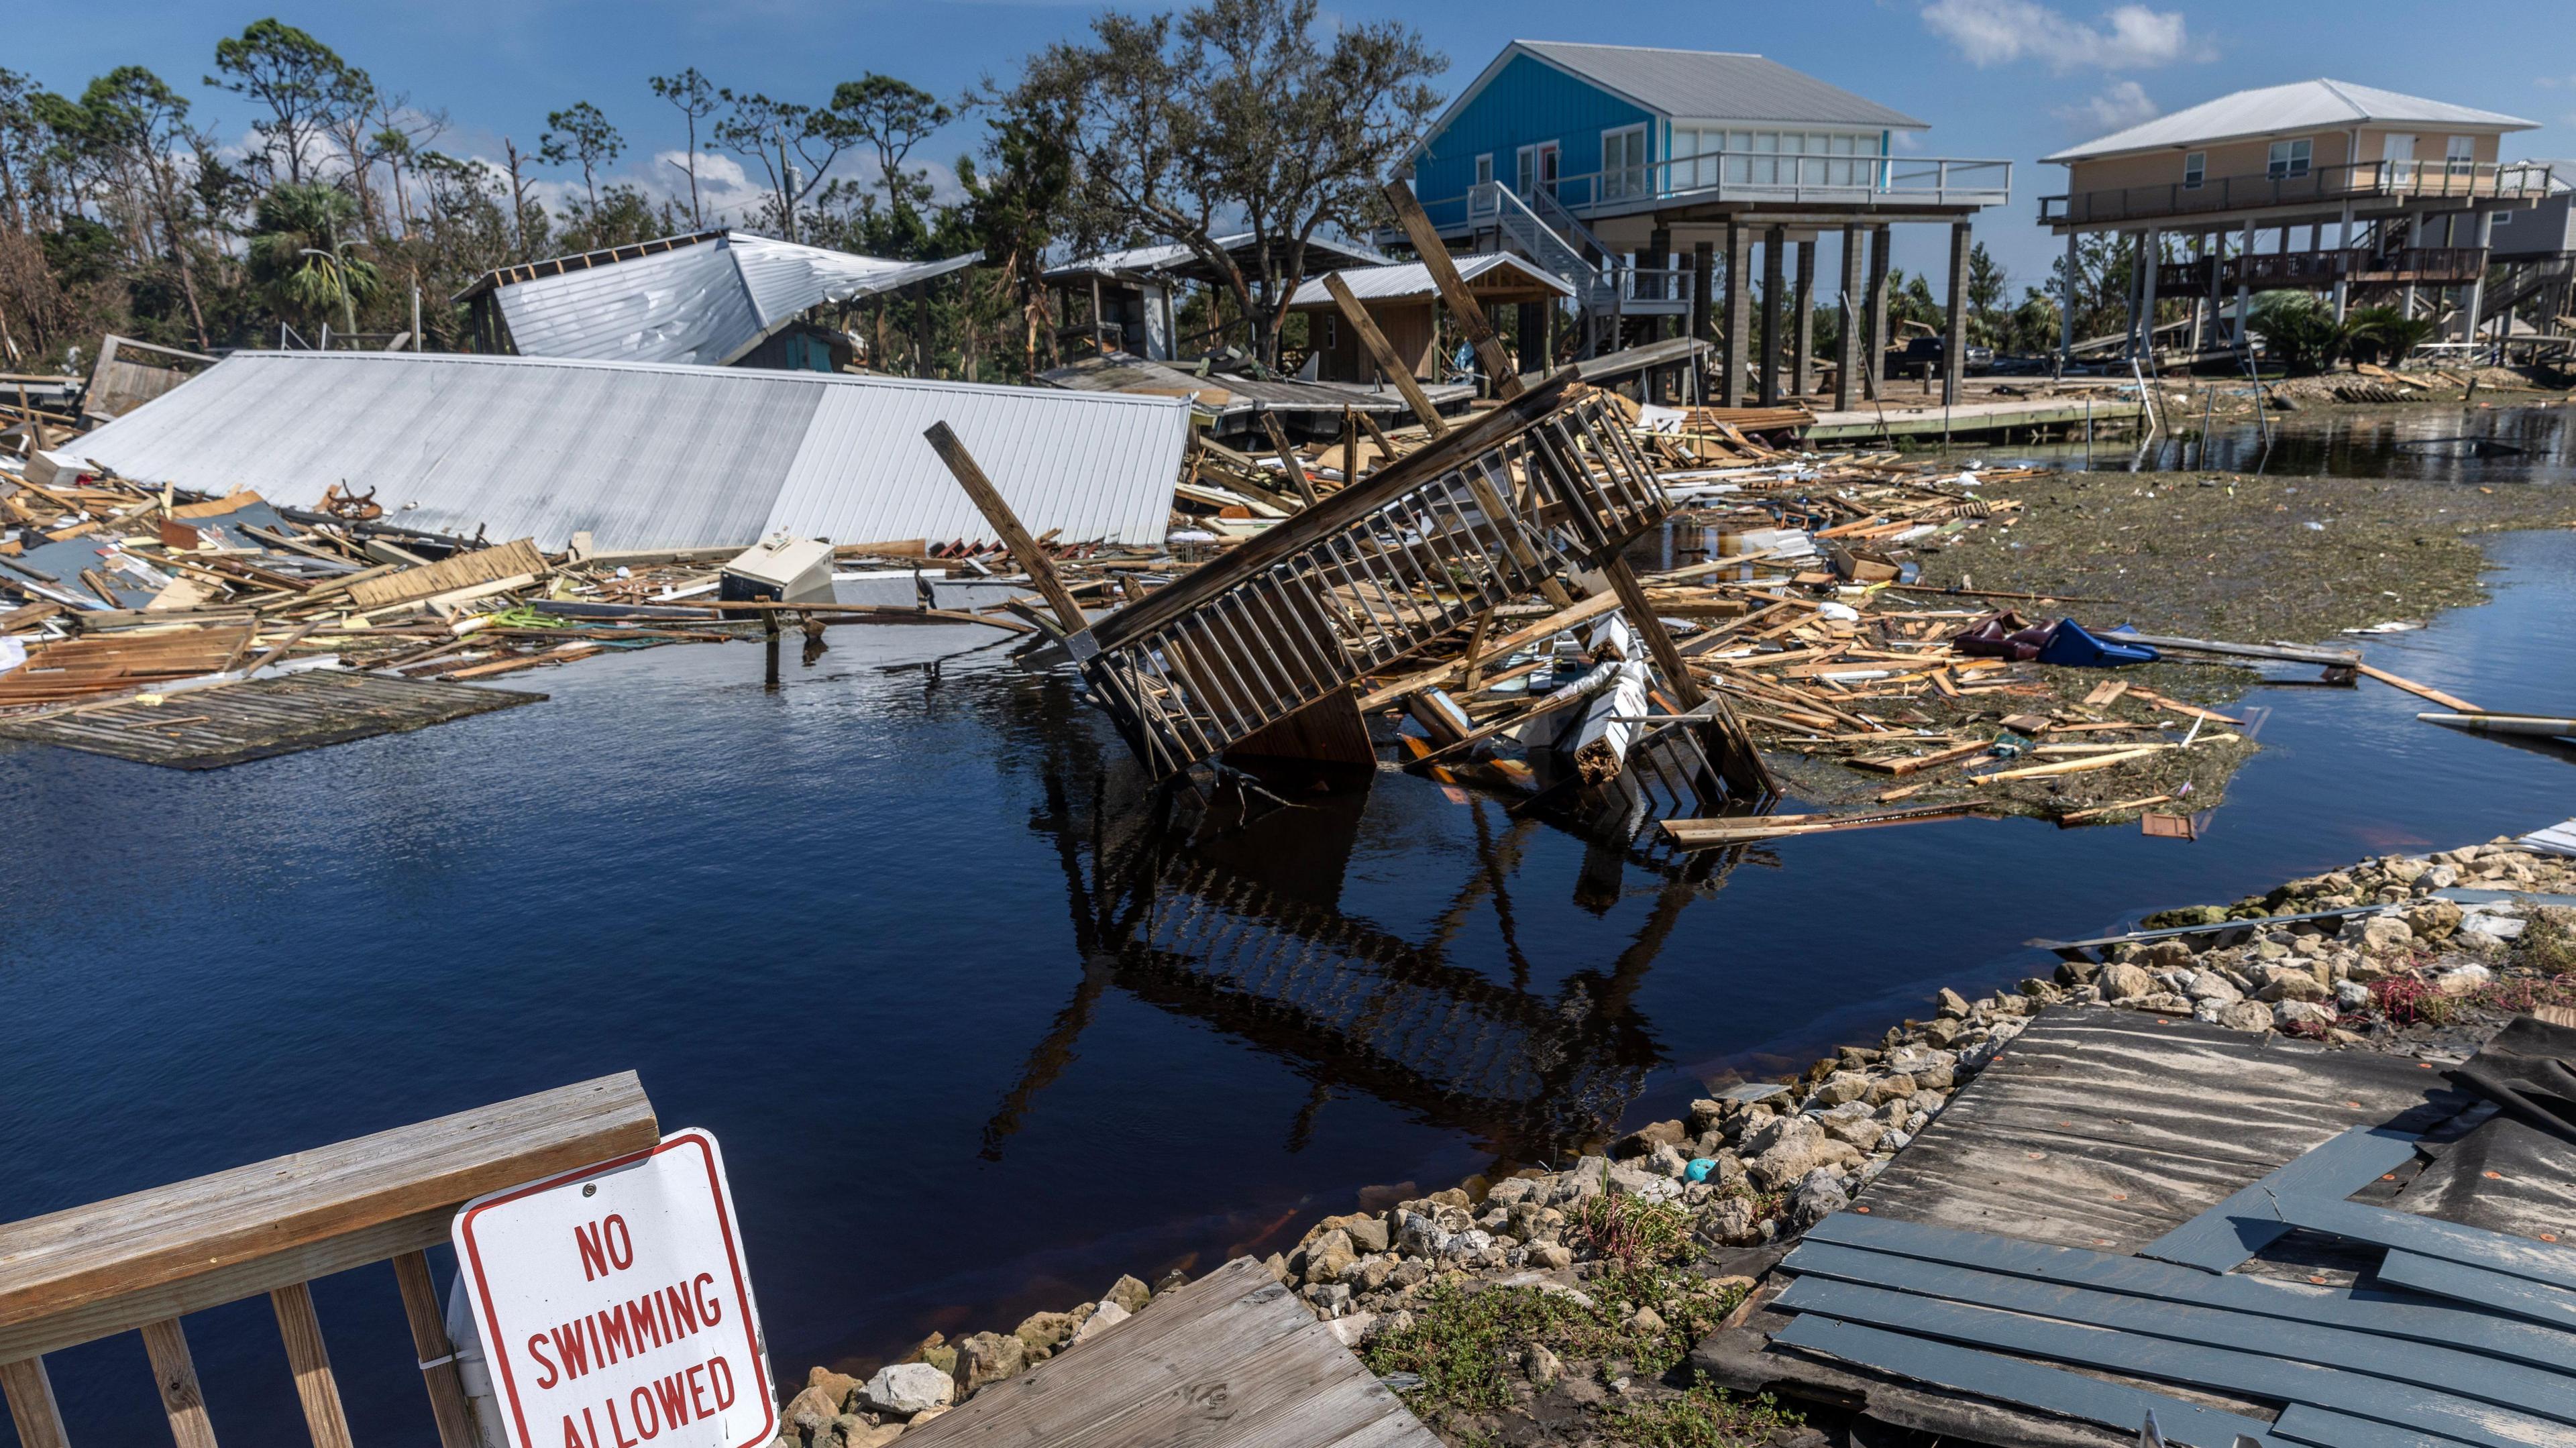
M2491 605L2365 657L2576 714L2576 533L2491 551ZM835 629L775 691L757 647L590 660L204 776L0 747L0 1221L636 1069L724 1141L801 1378L1672 1116L2045 971L2032 935L2576 814L2568 750L2285 685L2197 843L1971 819L1716 871L1409 776L1236 827L1139 804L989 639ZM392 1273L317 1301L358 1440L430 1443ZM188 1335L219 1433L301 1435L265 1304ZM75 1440L165 1433L134 1335L49 1363Z

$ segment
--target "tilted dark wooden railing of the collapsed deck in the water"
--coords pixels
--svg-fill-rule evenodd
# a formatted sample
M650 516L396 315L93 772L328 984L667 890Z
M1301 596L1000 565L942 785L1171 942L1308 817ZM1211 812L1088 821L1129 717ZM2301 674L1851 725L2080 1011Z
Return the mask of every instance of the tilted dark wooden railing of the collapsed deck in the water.
M1074 634L1146 768L1208 760L1662 523L1625 420L1569 389L1564 374Z

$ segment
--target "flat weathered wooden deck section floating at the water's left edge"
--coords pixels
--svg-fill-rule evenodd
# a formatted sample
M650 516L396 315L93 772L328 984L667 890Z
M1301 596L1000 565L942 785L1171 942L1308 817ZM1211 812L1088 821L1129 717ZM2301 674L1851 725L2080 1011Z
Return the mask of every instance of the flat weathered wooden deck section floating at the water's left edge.
M536 703L544 693L471 688L420 678L307 670L193 688L160 703L124 701L67 714L0 721L0 739L62 745L93 755L116 755L144 765L211 770L345 745L374 734L399 734Z

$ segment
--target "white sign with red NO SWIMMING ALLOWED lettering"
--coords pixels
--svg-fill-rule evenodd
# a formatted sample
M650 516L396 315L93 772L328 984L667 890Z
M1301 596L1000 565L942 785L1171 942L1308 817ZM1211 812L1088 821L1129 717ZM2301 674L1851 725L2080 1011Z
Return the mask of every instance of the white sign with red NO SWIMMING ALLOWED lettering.
M706 1131L489 1196L456 1262L513 1448L739 1448L778 1433Z

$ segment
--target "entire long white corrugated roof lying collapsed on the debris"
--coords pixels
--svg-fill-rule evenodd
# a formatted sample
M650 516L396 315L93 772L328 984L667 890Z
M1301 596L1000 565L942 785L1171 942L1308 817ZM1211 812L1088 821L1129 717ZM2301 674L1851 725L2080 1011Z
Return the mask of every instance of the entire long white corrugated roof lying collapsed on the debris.
M922 438L948 423L1030 533L1162 541L1180 397L453 353L234 353L75 448L314 508L340 482L428 533L562 549L989 538Z

